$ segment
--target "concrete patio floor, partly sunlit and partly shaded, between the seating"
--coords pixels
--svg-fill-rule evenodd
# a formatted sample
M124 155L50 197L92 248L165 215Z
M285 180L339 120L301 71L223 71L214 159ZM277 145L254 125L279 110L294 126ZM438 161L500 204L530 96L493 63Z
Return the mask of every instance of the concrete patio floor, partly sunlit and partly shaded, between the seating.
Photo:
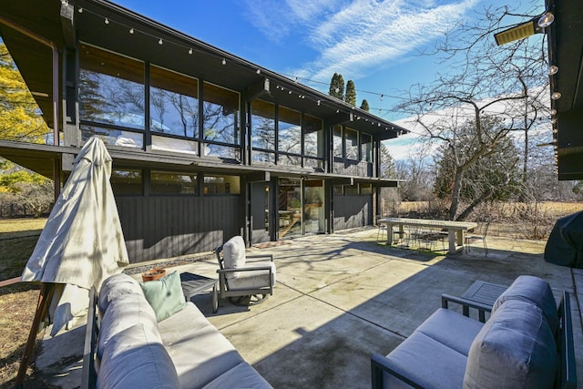
M442 293L461 295L476 280L509 285L520 274L535 275L554 292L572 293L580 381L583 270L544 261L544 241L488 237L488 247L487 257L481 243L470 254L435 255L386 247L376 242L376 230L282 241L249 250L271 253L276 261L278 282L266 302L246 308L221 301L212 313L210 294L192 301L275 388L368 388L371 354L389 353L413 333L441 306ZM217 264L207 260L176 269L215 277ZM78 348L83 328L75 336L77 330L46 339L36 368L45 366L48 373L55 349L65 342L60 336ZM75 368L56 375L51 384L63 387L80 379Z

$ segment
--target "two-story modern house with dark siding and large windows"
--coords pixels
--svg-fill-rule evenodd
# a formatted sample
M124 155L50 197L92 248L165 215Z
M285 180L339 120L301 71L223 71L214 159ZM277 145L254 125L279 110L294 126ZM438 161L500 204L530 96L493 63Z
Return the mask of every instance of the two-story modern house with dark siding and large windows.
M0 0L52 135L0 156L55 179L91 136L133 262L373 224L381 141L406 129L105 0Z

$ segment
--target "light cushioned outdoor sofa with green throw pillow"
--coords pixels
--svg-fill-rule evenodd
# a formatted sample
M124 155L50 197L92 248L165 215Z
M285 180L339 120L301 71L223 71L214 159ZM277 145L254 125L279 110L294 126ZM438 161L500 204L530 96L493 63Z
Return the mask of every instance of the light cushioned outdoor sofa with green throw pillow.
M178 272L90 292L82 388L271 388L192 302Z

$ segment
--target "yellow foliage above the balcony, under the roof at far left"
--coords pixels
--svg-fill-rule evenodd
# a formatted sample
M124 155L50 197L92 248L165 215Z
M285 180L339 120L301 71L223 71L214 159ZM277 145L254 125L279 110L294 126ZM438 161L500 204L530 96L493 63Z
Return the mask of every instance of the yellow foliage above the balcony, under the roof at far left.
M12 56L0 44L0 139L42 143L49 132Z

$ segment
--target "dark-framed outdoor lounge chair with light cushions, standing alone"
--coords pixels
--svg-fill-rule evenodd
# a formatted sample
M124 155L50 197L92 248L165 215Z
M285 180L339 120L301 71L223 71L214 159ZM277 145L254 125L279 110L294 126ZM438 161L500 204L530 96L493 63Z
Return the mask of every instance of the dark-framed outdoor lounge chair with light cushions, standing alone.
M215 249L219 261L219 296L235 305L253 305L273 294L275 263L270 255L245 255L245 242L235 236ZM247 260L262 261L247 261Z

